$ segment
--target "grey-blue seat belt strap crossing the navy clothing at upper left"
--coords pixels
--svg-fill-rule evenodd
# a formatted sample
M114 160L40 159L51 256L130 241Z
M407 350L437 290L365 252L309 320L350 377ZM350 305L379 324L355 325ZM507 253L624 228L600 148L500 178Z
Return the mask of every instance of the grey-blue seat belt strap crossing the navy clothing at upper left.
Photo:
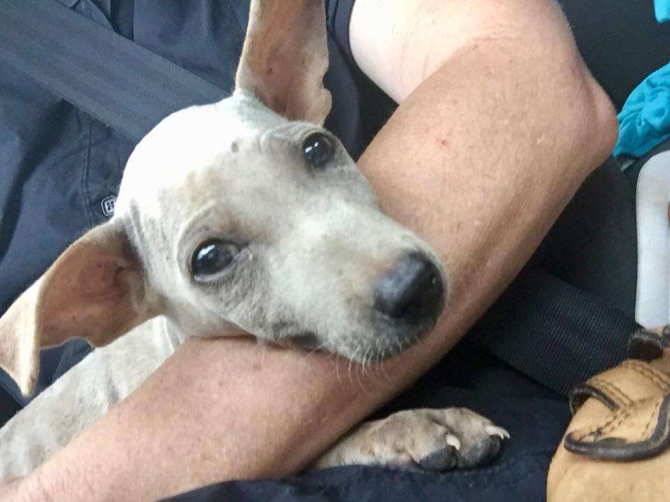
M0 60L134 142L226 94L54 0L0 0Z

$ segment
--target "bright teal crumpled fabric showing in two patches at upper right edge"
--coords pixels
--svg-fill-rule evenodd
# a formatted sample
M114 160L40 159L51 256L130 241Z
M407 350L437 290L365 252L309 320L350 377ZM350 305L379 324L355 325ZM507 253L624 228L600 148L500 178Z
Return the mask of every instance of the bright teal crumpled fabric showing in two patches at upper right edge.
M654 7L658 22L670 20L670 0L655 0ZM615 156L641 157L670 137L670 64L634 89L618 119Z

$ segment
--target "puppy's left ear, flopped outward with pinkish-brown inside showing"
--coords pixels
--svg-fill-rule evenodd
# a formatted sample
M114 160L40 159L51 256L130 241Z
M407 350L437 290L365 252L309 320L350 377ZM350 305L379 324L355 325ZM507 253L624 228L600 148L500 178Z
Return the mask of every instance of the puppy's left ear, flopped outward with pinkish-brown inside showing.
M142 267L120 222L85 234L0 318L0 367L34 389L39 351L70 338L105 345L151 317Z

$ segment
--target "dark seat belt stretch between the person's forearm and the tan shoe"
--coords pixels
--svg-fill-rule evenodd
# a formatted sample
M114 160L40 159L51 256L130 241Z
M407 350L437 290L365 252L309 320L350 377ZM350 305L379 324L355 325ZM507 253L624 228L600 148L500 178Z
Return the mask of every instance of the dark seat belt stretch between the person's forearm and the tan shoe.
M473 328L475 344L567 396L627 357L640 326L539 266L525 268Z

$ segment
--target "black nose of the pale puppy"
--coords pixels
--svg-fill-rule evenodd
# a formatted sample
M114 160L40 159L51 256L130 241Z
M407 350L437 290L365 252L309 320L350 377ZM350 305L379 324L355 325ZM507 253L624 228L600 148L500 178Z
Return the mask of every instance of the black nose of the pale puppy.
M418 323L442 308L444 286L438 268L412 252L385 273L375 287L375 310L392 319Z

